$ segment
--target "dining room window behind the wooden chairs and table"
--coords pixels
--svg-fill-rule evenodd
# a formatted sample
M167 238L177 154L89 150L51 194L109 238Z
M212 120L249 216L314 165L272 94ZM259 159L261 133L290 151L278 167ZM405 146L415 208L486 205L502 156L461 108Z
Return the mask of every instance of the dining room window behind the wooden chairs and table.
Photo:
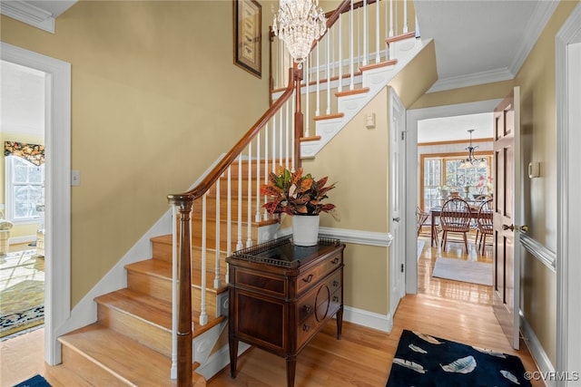
M472 200L478 195L491 193L490 165L492 155L479 155L486 162L475 164L470 168L461 168L465 155L435 156L422 155L419 198L420 207L425 210L442 205L441 187L448 187L450 192L457 191L462 198Z

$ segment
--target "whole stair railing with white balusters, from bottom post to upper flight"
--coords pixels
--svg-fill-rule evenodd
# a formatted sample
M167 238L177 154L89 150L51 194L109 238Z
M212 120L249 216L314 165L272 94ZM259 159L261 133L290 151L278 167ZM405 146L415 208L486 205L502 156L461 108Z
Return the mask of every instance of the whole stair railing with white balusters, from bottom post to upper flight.
M401 1L395 4L400 4ZM369 65L369 60L379 63L389 58L389 53L382 48L385 46L385 36L380 37L385 34L383 31L386 28L374 26L372 29L376 37L373 39L364 37L368 33L357 33L358 30L367 32L371 29L366 15L369 5L378 3L390 8L394 5L393 0L369 0L360 3L343 0L328 15L327 33L321 36L320 42L313 44L314 51L311 52L304 69L299 70L296 65L292 65L290 57L281 55L276 66L285 70L274 72L278 74L275 84L278 85L276 87L286 84L286 87L276 91L276 100L271 103L271 107L199 184L187 192L168 195L174 218L172 378L177 377L178 385L192 385L192 255L199 255L196 256L200 258L196 259L196 263L201 262L200 267L194 267L200 273L201 294L200 305L196 301L195 307L199 310L198 324L204 325L209 318L206 273L213 276L211 287L215 289L223 286L222 277L228 281L227 274L222 274L225 257L230 256L234 250L251 247L258 242L252 226L274 221L261 208L267 200L260 194L261 184L268 181L269 173L278 165L289 169L300 167L300 139L309 137L308 123L303 128L303 103L307 116L310 116L310 92L306 93L307 101L301 101L303 72L306 74L305 84L309 85L309 91L316 85L319 92L322 83L331 84L331 87L335 85L334 87L340 89L345 86L352 90L356 65L360 68ZM407 0L403 4L407 9ZM355 16L356 12L362 15L360 24L356 22L359 20L359 16ZM381 20L382 17L388 18L387 10L377 7L375 12L375 24L383 25ZM383 12L385 14L381 14ZM392 15L391 11L389 15ZM392 17L389 16L389 19ZM347 34L344 32L347 31L344 23L350 25L349 37L344 36ZM393 29L392 21L386 25L390 30ZM407 29L407 24L404 29ZM393 35L393 31L387 34ZM362 43L359 44L359 41ZM376 47L372 57L368 49L362 49L369 48L369 44L375 44ZM320 52L323 52L324 61L320 58ZM286 72L285 75L282 75L283 72ZM330 90L330 87L327 89ZM330 92L327 93L327 100L330 101ZM315 114L319 115L319 93L316 98ZM325 111L329 113L329 105ZM209 218L215 218L214 225ZM224 233L225 237L222 236ZM209 268L208 259L212 259L212 256L213 266ZM216 308L215 313L220 313L219 308Z

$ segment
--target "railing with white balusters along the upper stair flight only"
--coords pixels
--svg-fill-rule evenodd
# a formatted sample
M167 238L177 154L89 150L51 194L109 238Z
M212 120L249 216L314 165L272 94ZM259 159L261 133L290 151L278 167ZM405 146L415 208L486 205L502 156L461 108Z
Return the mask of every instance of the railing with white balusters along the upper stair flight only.
M316 134L310 122L332 118L337 111L331 92L350 92L358 87L364 69L392 63L389 41L414 36L409 33L408 0L363 0L341 3L328 13L330 28L303 64L304 137ZM337 11L340 11L339 13ZM335 20L336 19L336 20ZM398 38L397 38L397 37ZM271 89L275 100L287 82L292 58L284 43L271 34Z

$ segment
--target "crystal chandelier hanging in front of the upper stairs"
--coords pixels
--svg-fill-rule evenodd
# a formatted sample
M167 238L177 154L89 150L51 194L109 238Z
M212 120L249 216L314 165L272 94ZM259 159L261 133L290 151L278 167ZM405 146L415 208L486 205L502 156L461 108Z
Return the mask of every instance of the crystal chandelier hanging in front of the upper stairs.
M287 45L294 62L302 63L310 53L315 39L325 34L327 21L319 0L282 0L281 8L274 15L272 30Z

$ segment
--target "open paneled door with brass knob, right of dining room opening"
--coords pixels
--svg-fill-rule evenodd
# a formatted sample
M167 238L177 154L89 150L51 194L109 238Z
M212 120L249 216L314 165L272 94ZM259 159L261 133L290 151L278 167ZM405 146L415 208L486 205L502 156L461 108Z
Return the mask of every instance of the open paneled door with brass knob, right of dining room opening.
M494 111L494 283L493 307L498 323L515 349L519 344L522 160L520 160L519 88Z

